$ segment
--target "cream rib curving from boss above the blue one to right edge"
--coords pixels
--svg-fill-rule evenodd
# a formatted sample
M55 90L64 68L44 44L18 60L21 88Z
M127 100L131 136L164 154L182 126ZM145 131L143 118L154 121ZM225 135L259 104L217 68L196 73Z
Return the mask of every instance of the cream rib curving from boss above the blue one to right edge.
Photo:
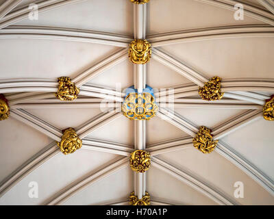
M236 25L188 29L149 36L152 47L169 44L196 42L220 38L273 37L274 27L269 25Z

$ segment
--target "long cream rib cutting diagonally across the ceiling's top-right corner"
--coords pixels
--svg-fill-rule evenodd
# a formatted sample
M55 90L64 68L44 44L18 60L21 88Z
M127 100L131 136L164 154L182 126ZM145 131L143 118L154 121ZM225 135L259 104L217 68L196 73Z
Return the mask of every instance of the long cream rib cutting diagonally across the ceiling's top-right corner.
M255 18L258 21L262 21L264 23L268 23L270 25L274 25L274 16L273 14L266 12L260 8L256 8L251 5L247 5L246 3L242 3L239 1L232 1L232 0L219 0L219 1L214 1L214 0L195 0L195 1L201 1L203 3L208 3L210 5L214 5L220 8L225 8L227 10L232 10L235 11L234 5L236 3L240 3L243 5L245 9L245 15L250 16L251 18ZM238 8L237 8L238 10Z

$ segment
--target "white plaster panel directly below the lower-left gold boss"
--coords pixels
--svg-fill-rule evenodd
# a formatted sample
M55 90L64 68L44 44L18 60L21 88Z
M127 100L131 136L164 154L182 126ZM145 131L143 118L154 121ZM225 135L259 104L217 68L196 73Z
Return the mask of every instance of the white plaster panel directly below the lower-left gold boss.
M62 153L58 153L4 194L0 198L0 204L47 204L66 186L83 179L84 176L88 177L94 174L120 157L119 155L85 149L76 151L73 156L64 156ZM29 198L29 183L32 181L38 183L38 198Z

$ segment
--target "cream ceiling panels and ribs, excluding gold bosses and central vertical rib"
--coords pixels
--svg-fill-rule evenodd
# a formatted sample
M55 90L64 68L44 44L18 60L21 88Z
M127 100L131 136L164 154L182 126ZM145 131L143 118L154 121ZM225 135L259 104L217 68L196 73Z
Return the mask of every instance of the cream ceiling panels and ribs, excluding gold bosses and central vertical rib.
M38 20L28 18L30 3L38 5ZM235 3L244 5L243 20L234 18ZM140 5L0 4L0 94L10 105L10 118L0 121L0 204L127 205L136 190L129 167L136 121L101 101L121 105L123 89L134 85L127 50ZM262 116L274 94L272 1L151 0L141 7L152 47L146 83L160 104L143 130L151 204L273 205L274 122ZM54 96L62 76L79 86L75 101ZM199 86L214 76L225 96L203 101ZM174 103L161 107L161 88L174 88ZM192 146L201 126L219 140L212 153ZM83 146L64 155L56 142L69 127ZM33 181L38 198L28 195ZM243 198L234 197L237 181Z

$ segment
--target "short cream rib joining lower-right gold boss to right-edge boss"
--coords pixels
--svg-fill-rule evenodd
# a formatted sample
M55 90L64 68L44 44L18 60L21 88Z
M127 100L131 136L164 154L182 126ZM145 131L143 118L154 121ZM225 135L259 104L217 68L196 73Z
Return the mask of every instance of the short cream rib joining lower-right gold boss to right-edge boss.
M212 135L214 135L214 139L219 140L227 136L232 131L236 131L242 126L245 126L254 120L259 119L262 116L262 110L248 110L238 116L230 118L225 123L215 127L212 131Z

